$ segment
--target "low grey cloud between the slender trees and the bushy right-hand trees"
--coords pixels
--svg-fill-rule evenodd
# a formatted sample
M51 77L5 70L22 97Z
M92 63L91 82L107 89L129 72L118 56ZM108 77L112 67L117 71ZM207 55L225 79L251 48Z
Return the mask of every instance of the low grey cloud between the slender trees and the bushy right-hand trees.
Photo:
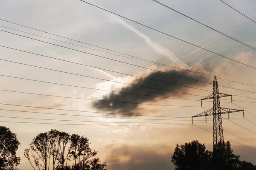
M106 162L108 170L174 170L171 157L171 150L161 154L154 146L121 145L112 148Z

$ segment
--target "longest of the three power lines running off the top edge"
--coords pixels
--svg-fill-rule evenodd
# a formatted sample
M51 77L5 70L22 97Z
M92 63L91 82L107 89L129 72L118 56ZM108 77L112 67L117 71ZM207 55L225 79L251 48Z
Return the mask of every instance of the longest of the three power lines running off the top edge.
M102 9L102 10L104 10L104 11L107 11L107 12L109 12L109 13L111 13L111 14L114 14L114 15L117 15L117 16L119 16L119 17L125 18L126 20L129 20L129 21L132 21L132 22L134 22L134 23L140 24L141 26L145 26L145 27L150 28L150 29L152 29L152 30L154 30L154 31L160 32L160 33L162 33L162 34L165 34L165 35L167 35L167 36L169 36L169 37L175 38L175 39L180 40L180 41L182 41L182 42L186 42L186 43L188 43L188 44L190 44L190 45L193 45L193 46L195 46L195 47L201 48L201 49L203 49L203 50L205 50L205 51L211 52L212 54L216 54L216 55L218 55L218 56L224 57L224 58L226 58L226 59L230 59L230 60L232 60L232 61L234 61L234 62L237 62L237 63L239 63L239 64L242 64L242 65L245 65L245 66L247 66L247 67L256 69L256 67L247 65L247 64L245 64L245 63L243 63L243 62L239 62L239 61L237 61L237 60L235 60L235 59L231 59L231 58L229 58L229 57L225 57L225 56L223 56L223 55L221 55L221 54L218 54L218 53L215 53L215 52L213 52L213 51L207 50L206 48L200 47L200 46L198 46L198 45L192 44L191 42L188 42L188 41L182 40L182 39L180 39L180 38L174 37L174 36L172 36L172 35L170 35L170 34L167 34L167 33L164 33L164 32L162 32L162 31L159 31L159 30L157 30L157 29L155 29L155 28L146 26L146 25L144 25L144 24L142 24L142 23L139 23L139 22L137 22L137 21L128 19L127 17L123 17L122 15L119 15L119 14L116 14L116 13L114 13L114 12L108 11L107 9L104 9L104 8L99 7L99 6L93 5L93 4L88 3L88 2L86 2L86 1L84 1L84 0L80 0L80 1L82 1L82 2L84 2L84 3L87 3L87 4L91 5L91 6L94 6L94 7L96 7L96 8Z

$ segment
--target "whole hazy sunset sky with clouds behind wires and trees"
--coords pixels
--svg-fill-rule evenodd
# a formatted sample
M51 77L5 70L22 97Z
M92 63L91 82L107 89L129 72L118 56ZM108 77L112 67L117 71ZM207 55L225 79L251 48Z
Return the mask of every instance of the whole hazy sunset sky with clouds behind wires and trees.
M207 50L214 51L215 53L256 67L256 51L253 49L224 37L223 35L177 14L172 10L164 8L152 0L88 0L87 2L113 11L139 23L143 23L149 27L163 31L164 33L170 34L174 37L191 42L195 45L206 48ZM234 37L251 46L256 46L256 24L224 5L224 3L221 3L219 0L161 0L160 2L208 26L211 26L218 31L221 31L224 34ZM253 8L256 5L255 1L225 0L225 2L248 17L256 20L256 13ZM211 84L195 82L189 79L175 77L170 74L198 79L205 82L212 82L212 77L188 73L187 71L181 71L180 69L174 69L166 65L212 74L223 79L256 85L254 76L256 70L253 68L241 65L216 54L204 51L201 48L197 48L157 31L117 17L106 11L83 3L80 0L0 0L0 19L36 28L44 32L32 30L30 28L25 28L2 20L0 21L0 30L65 46L78 51L32 40L26 37L20 37L3 31L0 31L0 45L83 64L78 65L49 57L28 54L0 47L0 75L2 75L0 76L0 109L87 116L106 116L101 113L82 112L93 111L120 113L120 115L116 115L116 117L121 118L141 118L141 116L136 116L136 114L191 117L205 111L204 108L209 109L212 107L212 102L203 102L204 108L200 107L200 99L203 98L201 96L211 94ZM32 34L44 37L38 37ZM53 34L61 37L57 37ZM95 46L87 45L86 43ZM98 48L96 46L105 49ZM113 51L119 51L123 54L118 54ZM135 60L134 57L127 56L125 54L140 57L142 59ZM7 62L3 59L13 62ZM147 62L145 59L147 59L147 61L154 61L165 65L157 65L156 63ZM20 65L14 62L21 62L28 65ZM29 65L58 71L35 68ZM85 65L89 65L94 68ZM168 74L162 74L161 72L156 72L154 70L167 72ZM4 77L3 75L11 77ZM35 82L12 77L36 79L73 86ZM146 77L147 79L141 79L140 77ZM155 82L150 79L162 82ZM190 86L193 87L193 89L171 85L172 83ZM224 137L226 138L225 141L232 140L231 145L234 153L241 155L242 160L251 161L256 164L256 161L252 159L253 156L256 156L256 152L255 150L248 148L252 147L256 149L256 144L250 143L256 143L256 133L253 131L256 126L253 124L256 123L256 113L254 113L254 103L256 100L247 98L255 98L256 94L245 92L255 91L255 87L236 82L223 81L221 79L218 79L218 83L222 86L244 90L238 91L222 86L219 87L220 92L234 95L233 103L221 100L222 107L234 109L240 109L239 107L241 107L245 110L246 119L242 119L242 113L232 113L230 114L230 118L241 118L232 119L232 121L251 130L249 131L243 127L234 125L232 122L226 120L227 115L223 115L223 128L225 131L229 132L227 133L224 131ZM137 86L127 84L135 84ZM74 86L80 86L80 88ZM140 86L147 86L148 88L142 88ZM156 88L160 90L157 90ZM202 91L200 89L206 89L208 91ZM22 91L27 93L67 96L82 99L39 96L10 91ZM137 93L143 94L144 96L135 96L132 94L122 94L110 91ZM173 93L170 91L176 91L179 93ZM166 98L149 97L145 95L164 96ZM198 101L170 98L195 99ZM116 102L99 102L83 99L97 99ZM246 102L237 102L236 100ZM118 103L117 101L147 103L153 105ZM28 108L14 105L26 105L41 108ZM76 111L60 111L43 108ZM199 140L199 142L206 144L208 150L212 149L212 134L196 127L196 124L144 126L146 124L143 125L143 122L149 122L148 120L56 116L4 110L1 110L0 113L1 116L9 117L63 120L50 121L6 117L1 118L1 121L9 122L0 122L0 125L7 126L12 130L12 132L16 133L17 138L21 143L21 146L17 150L17 156L21 157L21 162L18 167L23 170L30 168L29 162L23 156L23 150L29 147L34 136L51 129L58 129L68 133L77 133L86 136L90 140L92 148L98 150L99 158L102 161L106 161L108 170L155 170L159 169L159 167L162 170L173 169L174 167L171 163L171 157L176 144L184 144L185 142L191 142L192 140ZM143 118L149 119L146 116ZM209 117L208 119L209 120L207 122L212 124L211 118ZM108 123L67 122L64 120L102 121ZM253 123L248 122L248 120ZM11 123L10 121L16 123ZM47 125L17 122L70 123L86 125ZM122 123L122 125L126 124L127 126L117 126L121 123L111 122L137 122L137 124L134 125L138 126L131 126L131 123ZM163 123L163 120L150 122ZM188 118L180 121L172 118L172 121L164 120L164 122L191 124L191 119ZM212 131L212 126L209 124L202 123L198 124L198 126ZM233 136L230 133L235 134L236 136ZM247 141L243 139L246 139ZM240 144L237 144L236 142ZM241 144L248 147L244 147Z

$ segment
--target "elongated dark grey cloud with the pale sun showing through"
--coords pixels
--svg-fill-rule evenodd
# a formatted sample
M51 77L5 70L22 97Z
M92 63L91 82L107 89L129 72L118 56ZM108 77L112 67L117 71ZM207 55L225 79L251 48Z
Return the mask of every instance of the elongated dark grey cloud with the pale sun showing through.
M202 72L202 70L197 70L197 71ZM190 73L188 71L172 69L172 70L165 70L164 72L168 74L154 71L145 77L147 79L135 78L131 83L129 83L133 85L126 85L121 89L113 89L114 91L120 91L124 93L111 92L108 95L103 96L102 101L93 102L92 106L98 111L119 112L119 113L135 115L138 112L137 108L139 107L139 105L128 104L128 103L118 103L118 102L145 103L145 102L158 102L164 99L164 98L151 97L151 96L180 97L180 98L188 97L188 95L186 94L180 94L180 93L187 93L191 90L191 88L186 88L184 86L192 86L192 87L200 88L204 85L207 85L206 83L202 83L192 79L210 82L208 80L209 77L206 77L201 74ZM170 74L174 74L177 76L173 76ZM189 79L186 79L183 77L187 77ZM162 81L162 82L156 82L151 79ZM163 82L168 82L168 83L163 83ZM183 85L183 86L172 85L169 83ZM139 86L145 86L148 88L143 88ZM150 89L150 88L157 88L157 89L162 89L166 91ZM180 93L173 93L169 91L178 91ZM125 93L132 93L132 94L125 94ZM141 96L141 95L134 95L134 94L150 95L150 96ZM111 102L103 102L103 101L111 101Z

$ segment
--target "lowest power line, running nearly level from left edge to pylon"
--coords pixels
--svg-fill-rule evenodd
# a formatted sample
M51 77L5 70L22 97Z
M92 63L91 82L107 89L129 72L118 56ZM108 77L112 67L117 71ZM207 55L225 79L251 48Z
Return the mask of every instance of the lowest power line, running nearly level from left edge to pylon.
M176 125L192 125L192 124L176 124L176 125L94 125L94 124L67 124L67 123L42 123L42 122L13 122L0 121L7 123L26 123L26 124L44 124L44 125L86 125L86 126L176 126Z

